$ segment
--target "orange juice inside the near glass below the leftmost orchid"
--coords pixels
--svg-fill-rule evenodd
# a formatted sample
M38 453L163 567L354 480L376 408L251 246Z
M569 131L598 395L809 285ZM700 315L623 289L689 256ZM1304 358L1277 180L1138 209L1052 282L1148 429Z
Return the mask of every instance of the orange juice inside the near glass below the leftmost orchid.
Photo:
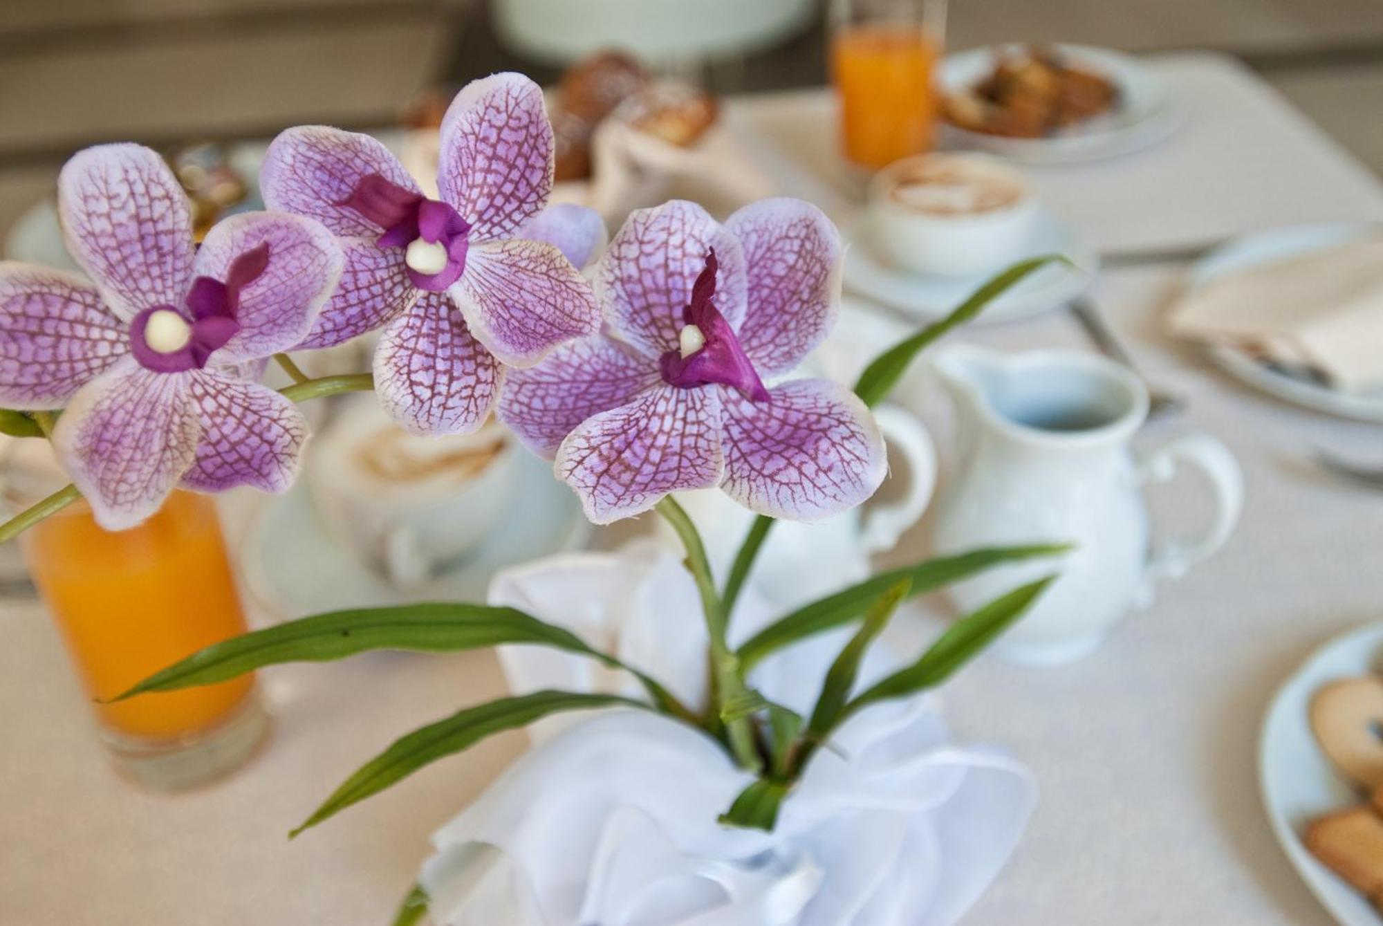
M245 632L216 506L205 495L174 492L148 521L118 532L97 527L79 502L29 529L26 556L93 698ZM174 739L235 713L252 686L243 676L95 710L113 733Z

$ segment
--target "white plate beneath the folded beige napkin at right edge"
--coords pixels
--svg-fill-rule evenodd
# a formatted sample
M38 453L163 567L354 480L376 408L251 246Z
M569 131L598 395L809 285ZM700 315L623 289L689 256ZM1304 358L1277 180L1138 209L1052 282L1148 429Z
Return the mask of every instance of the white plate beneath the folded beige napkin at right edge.
M1328 250L1377 232L1376 225L1294 225L1247 235L1220 247L1192 267L1187 275L1185 292L1194 292L1227 274ZM1383 422L1383 388L1342 393L1275 370L1234 347L1213 346L1206 350L1210 359L1229 375L1286 402L1328 415Z

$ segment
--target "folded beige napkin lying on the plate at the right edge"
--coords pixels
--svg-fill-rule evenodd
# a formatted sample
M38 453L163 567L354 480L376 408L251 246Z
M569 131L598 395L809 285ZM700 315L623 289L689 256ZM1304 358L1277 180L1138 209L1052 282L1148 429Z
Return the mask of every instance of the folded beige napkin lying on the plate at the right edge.
M1178 301L1171 330L1318 372L1340 390L1383 386L1383 238L1228 274Z

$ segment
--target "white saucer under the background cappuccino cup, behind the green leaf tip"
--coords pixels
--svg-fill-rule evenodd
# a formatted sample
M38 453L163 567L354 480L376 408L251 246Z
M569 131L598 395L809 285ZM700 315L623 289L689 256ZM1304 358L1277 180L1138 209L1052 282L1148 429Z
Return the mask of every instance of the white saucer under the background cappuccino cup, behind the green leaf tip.
M950 314L993 276L935 276L898 267L874 246L871 231L866 214L845 232L851 245L845 256L845 287L911 318L935 321ZM982 322L1014 321L1062 305L1083 293L1099 270L1099 254L1090 243L1073 225L1046 209L1037 216L1033 236L1018 260L1039 254L1065 254L1075 267L1051 264L1033 272L996 299L979 316Z

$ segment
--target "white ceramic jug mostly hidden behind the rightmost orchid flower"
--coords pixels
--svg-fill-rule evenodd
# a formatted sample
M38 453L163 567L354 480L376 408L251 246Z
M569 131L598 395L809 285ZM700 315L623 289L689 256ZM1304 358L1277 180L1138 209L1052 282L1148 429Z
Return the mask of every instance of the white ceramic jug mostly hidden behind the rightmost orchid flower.
M874 419L888 441L889 467L907 473L902 498L866 502L823 521L776 524L750 575L750 585L769 604L794 608L866 579L870 556L893 549L903 531L927 510L936 482L936 452L927 428L892 405L875 408ZM754 513L719 489L678 492L678 502L701 532L711 568L723 582ZM680 547L661 518L658 531L668 543Z

